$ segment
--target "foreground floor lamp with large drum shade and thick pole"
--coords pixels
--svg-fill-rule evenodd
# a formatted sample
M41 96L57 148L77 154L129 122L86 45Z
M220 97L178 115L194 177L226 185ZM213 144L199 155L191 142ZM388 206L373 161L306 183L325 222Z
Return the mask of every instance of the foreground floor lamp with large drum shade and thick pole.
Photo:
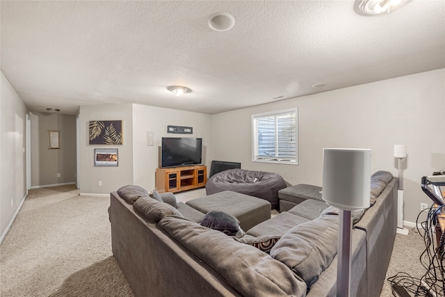
M337 297L350 296L352 211L369 207L371 150L323 149L323 200L339 211Z

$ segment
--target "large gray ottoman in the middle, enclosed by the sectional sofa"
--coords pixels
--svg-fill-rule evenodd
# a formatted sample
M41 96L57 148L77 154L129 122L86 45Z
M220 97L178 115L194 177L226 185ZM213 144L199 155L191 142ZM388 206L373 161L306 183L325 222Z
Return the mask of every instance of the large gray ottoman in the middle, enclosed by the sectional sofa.
M204 214L212 210L231 214L238 218L244 231L270 218L270 202L233 191L188 200L186 204Z

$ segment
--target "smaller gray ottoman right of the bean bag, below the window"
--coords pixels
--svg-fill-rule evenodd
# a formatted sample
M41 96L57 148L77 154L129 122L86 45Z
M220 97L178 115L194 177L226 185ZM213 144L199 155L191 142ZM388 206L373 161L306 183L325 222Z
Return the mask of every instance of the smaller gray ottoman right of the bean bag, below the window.
M321 186L312 186L311 184L297 184L296 186L282 188L278 191L280 211L288 211L308 199L323 201L320 192Z

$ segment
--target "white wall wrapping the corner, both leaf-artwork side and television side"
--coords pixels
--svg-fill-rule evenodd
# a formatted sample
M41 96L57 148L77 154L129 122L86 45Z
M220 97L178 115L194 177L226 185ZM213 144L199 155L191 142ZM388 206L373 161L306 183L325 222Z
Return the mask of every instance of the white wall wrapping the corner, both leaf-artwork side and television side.
M154 173L159 167L159 146L163 136L202 137L203 162L211 158L211 115L139 104L107 104L81 106L79 117L80 184L83 194L109 194L127 184L138 184L149 191L154 189ZM124 120L123 145L89 145L90 120ZM193 127L193 134L167 134L167 125ZM154 146L147 146L147 131L154 132ZM119 166L94 166L95 148L118 148ZM102 186L98 186L99 180Z

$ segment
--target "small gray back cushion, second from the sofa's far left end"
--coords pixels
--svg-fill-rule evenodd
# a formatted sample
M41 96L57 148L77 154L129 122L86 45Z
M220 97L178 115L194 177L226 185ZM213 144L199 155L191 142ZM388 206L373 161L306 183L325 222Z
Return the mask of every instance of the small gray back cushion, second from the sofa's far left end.
M133 209L150 223L158 223L164 216L181 216L170 204L149 197L141 197L133 204Z

